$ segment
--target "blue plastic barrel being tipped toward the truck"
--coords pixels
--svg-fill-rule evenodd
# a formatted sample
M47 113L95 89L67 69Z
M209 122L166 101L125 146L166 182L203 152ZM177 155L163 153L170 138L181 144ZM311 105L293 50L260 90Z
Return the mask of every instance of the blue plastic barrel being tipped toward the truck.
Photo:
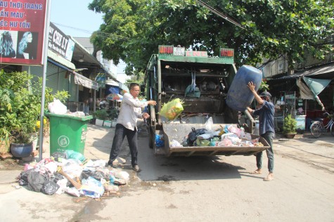
M236 72L227 93L226 104L233 110L245 111L246 107L252 103L254 96L247 86L250 81L255 83L255 90L257 91L262 81L262 72L250 65L243 65Z

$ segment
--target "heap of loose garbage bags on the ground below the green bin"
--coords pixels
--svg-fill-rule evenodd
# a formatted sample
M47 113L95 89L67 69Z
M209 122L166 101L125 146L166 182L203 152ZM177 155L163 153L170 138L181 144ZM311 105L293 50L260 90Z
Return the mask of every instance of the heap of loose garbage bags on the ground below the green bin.
M54 152L50 158L25 165L18 176L19 184L28 190L46 195L68 193L76 197L100 198L120 195L122 185L129 182L129 174L109 169L104 160L86 159L72 150Z

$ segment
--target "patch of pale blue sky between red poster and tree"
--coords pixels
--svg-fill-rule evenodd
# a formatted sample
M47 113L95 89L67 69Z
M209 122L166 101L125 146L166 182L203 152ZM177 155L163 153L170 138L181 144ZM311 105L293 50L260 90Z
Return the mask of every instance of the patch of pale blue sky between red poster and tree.
M102 14L88 9L92 0L51 0L50 21L64 34L90 37L102 24Z

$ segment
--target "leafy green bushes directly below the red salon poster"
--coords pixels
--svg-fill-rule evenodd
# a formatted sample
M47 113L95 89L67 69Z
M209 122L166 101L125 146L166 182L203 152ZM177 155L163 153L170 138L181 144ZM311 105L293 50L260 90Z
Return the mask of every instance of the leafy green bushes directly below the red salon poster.
M0 137L9 136L13 143L29 143L31 133L37 132L37 120L41 113L41 79L31 84L32 75L27 72L6 73L0 71ZM65 91L51 95L46 88L45 107L53 98L65 99Z

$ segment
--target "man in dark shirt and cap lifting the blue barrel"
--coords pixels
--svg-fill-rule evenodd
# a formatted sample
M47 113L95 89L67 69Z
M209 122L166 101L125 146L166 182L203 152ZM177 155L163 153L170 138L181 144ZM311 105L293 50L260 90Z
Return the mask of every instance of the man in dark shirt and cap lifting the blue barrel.
M268 157L268 169L269 174L264 178L264 181L272 181L274 179L274 152L273 152L273 138L275 135L274 127L274 104L271 103L271 94L267 91L262 92L260 95L255 91L255 84L250 81L248 88L253 93L257 103L261 105L257 110L252 110L247 107L250 114L259 116L259 135L262 136L268 143L270 148L266 149L266 157ZM257 170L252 171L250 174L262 174L262 152L258 152L256 155Z

